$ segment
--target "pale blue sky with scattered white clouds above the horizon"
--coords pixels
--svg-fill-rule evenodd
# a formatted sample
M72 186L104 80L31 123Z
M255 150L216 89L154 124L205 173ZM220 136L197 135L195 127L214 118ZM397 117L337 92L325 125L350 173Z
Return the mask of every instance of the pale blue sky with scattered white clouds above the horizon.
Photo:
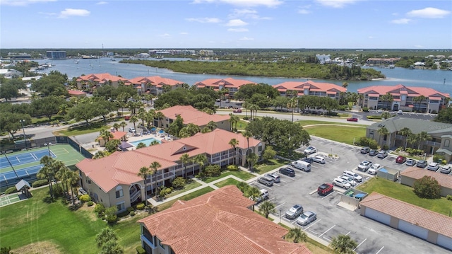
M0 48L452 49L452 1L0 0Z

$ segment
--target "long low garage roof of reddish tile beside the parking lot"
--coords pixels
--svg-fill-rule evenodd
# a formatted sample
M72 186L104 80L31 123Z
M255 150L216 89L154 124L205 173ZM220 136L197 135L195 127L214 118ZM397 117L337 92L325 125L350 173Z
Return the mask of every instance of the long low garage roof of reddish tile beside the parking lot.
M452 237L452 218L446 215L432 212L422 207L417 207L414 204L393 199L392 197L386 197L377 192L372 192L371 195L364 198L359 204L362 207L369 207L411 224L416 224L424 229Z

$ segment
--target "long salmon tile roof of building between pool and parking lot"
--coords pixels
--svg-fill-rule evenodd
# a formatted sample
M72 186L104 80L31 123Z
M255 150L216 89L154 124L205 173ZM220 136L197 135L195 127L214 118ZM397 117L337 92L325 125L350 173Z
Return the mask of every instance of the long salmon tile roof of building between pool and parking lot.
M246 139L242 134L214 129L213 132L198 133L193 137L173 142L164 142L133 151L115 152L104 158L95 160L85 158L76 166L102 190L108 192L120 183L132 184L141 181L142 178L137 175L138 171L143 166L150 166L153 161L160 163L160 169L176 166L179 158L185 153L192 157L198 154L217 154L232 149L229 142L233 138L239 141L237 147L242 149L247 147ZM259 143L257 139L249 139L250 147Z

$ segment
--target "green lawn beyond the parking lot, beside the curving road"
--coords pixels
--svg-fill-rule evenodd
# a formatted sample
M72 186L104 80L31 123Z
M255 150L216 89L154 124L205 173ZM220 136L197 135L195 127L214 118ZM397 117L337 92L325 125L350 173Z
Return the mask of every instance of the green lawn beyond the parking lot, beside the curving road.
M353 139L358 142L360 137L366 136L365 127L348 127L337 125L318 125L312 127L305 127L309 135L322 137L324 139L331 139L336 142L345 144L353 144ZM334 129L334 132L332 131Z

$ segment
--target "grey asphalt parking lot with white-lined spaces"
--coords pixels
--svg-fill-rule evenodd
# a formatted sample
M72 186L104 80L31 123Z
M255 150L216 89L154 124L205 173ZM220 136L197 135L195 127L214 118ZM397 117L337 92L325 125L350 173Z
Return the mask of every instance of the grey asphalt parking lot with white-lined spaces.
M259 189L268 190L269 200L276 206L274 214L276 217L280 217L281 221L299 226L296 219L286 219L284 214L294 204L300 204L305 212L311 211L317 214L316 221L306 226L299 226L300 228L328 242L339 234L348 235L358 243L355 249L357 253L449 253L427 241L362 217L359 215L359 209L353 211L347 206L339 206L340 195L345 191L341 187L335 186L334 191L325 197L316 192L319 185L331 183L333 178L342 175L343 171L358 173L363 178L362 183L365 183L373 176L357 171L358 164L364 160L403 171L407 166L396 163L396 156L390 155L382 159L361 154L360 147L338 144L316 137L311 139L311 145L317 149L316 154L323 156L333 154L338 158L326 158L325 164L311 163L311 172L295 169L295 177L279 174L280 183L275 183L271 187L256 181L251 183ZM305 147L302 147L300 150L304 149Z

